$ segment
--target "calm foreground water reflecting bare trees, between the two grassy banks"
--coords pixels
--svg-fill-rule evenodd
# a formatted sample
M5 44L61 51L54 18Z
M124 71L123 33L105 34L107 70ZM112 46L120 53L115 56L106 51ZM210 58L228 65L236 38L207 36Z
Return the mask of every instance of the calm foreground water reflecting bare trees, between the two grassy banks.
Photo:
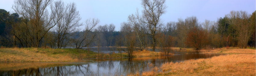
M88 63L65 63L62 65L26 66L22 68L7 66L1 68L0 76L120 76L148 71L166 62L181 62L190 59L210 58L223 54L200 54L198 52L173 52L173 56L87 59ZM30 64L30 63L26 63ZM45 63L42 63L45 64ZM11 65L19 65L11 63ZM37 64L35 64L37 65ZM161 70L159 70L161 71Z

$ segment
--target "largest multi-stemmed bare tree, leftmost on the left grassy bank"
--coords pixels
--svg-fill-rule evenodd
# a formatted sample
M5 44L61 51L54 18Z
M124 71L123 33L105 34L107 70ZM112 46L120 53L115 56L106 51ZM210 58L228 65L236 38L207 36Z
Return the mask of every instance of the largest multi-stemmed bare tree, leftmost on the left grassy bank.
M60 20L61 16L59 16L57 9L50 7L51 11L48 11L47 8L51 3L51 0L14 1L12 8L23 18L22 25L25 26L23 28L26 34L25 41L31 42L30 44L27 42L27 45L39 47L45 34L56 25L55 22Z

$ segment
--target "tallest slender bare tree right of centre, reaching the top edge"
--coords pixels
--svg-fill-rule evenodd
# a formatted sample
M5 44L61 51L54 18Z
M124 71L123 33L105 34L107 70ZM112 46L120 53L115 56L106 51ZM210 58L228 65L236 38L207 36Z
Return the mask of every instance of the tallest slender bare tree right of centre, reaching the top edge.
M144 23L150 31L150 36L152 37L152 49L155 51L156 46L156 31L162 25L161 16L166 12L167 6L165 5L165 0L142 0L142 17L144 18Z

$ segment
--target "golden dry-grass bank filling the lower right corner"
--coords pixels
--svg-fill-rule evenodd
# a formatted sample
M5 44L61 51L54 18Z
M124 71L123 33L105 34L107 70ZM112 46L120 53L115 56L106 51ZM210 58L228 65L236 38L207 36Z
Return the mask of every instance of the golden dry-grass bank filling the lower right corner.
M207 59L185 60L180 63L164 63L161 67L152 67L143 72L143 76L255 76L255 49L226 49L212 51L200 50L202 53L227 54ZM159 72L160 70L160 72Z

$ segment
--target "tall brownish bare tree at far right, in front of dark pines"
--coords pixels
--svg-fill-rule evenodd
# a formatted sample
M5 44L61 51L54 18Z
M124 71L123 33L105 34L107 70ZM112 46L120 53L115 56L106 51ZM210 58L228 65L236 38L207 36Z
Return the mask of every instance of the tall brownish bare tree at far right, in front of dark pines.
M235 25L237 32L239 33L239 44L241 48L246 48L250 36L255 31L255 25L252 25L250 21L250 14L246 11L230 11L226 17L229 19L229 23Z

